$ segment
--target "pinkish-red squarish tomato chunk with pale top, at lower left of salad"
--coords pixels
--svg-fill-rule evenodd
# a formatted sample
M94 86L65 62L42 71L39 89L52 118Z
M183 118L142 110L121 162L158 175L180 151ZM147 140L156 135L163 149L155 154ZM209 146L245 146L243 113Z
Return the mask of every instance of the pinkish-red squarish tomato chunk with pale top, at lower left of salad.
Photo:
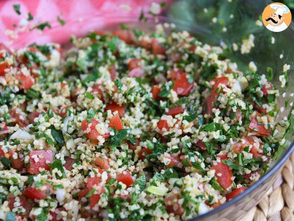
M45 168L49 170L50 166L48 163L53 162L52 150L35 150L29 153L29 163L28 172L30 174L40 173L40 168Z

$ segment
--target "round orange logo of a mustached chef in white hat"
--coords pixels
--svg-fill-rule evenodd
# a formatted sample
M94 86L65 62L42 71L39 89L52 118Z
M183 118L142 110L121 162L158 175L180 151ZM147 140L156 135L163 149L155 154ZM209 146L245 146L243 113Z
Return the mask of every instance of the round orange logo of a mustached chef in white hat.
M280 32L288 28L291 19L290 9L279 2L269 4L262 13L263 24L274 32Z

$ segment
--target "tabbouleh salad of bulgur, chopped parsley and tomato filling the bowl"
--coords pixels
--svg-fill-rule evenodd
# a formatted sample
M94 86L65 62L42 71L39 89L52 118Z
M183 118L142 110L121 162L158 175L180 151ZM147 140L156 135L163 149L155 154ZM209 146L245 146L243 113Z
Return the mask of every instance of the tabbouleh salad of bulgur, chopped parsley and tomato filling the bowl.
M279 91L167 27L1 47L0 219L188 220L269 169Z

